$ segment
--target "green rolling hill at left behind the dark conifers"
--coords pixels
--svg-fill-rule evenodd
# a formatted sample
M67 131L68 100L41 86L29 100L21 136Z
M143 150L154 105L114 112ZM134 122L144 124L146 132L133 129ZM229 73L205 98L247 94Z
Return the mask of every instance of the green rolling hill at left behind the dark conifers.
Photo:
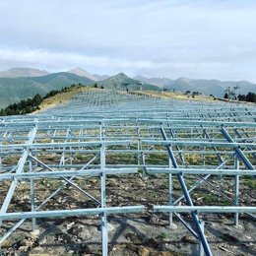
M44 96L51 90L60 90L78 83L89 85L93 81L67 72L41 77L0 78L0 108L36 94Z

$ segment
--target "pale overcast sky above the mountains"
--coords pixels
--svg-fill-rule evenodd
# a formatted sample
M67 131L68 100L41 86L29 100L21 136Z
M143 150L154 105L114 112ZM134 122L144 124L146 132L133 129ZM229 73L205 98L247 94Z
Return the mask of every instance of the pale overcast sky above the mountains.
M78 66L256 82L256 1L0 1L0 70Z

